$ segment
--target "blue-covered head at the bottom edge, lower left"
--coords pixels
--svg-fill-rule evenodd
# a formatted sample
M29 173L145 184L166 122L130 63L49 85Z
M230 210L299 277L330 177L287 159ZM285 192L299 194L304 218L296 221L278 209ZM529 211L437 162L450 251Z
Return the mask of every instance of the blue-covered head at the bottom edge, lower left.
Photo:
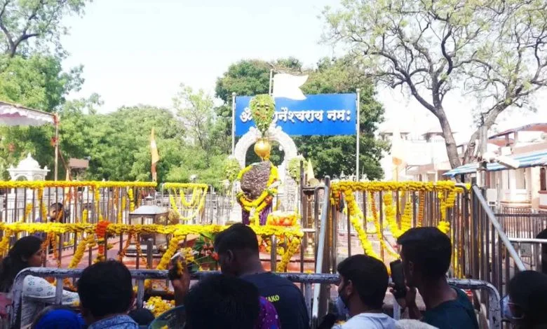
M43 309L34 319L32 329L81 329L82 318L67 307L50 306Z

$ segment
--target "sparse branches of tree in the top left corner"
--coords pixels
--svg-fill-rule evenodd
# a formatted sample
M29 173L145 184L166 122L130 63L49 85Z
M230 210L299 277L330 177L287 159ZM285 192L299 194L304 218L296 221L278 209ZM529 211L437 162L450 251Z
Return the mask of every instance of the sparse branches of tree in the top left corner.
M83 13L85 0L2 0L0 31L4 54L48 52L53 43L61 50L60 36L67 34L61 24L66 15ZM32 41L32 42L31 42Z

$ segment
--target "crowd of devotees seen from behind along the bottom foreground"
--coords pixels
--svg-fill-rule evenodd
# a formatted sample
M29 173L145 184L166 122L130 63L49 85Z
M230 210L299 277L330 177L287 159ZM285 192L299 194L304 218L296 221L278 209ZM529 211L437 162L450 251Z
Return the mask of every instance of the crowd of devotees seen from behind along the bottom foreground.
M39 237L15 242L0 268L0 316L13 293L15 276L27 267L43 264L45 253ZM304 297L281 276L267 272L259 258L255 232L235 224L215 237L221 274L208 274L191 285L190 271L171 269L175 304L184 309L189 329L304 329L310 318ZM318 328L479 328L471 300L450 286L447 271L452 257L449 237L437 228L412 228L398 238L405 276L405 296L397 299L407 319L395 321L384 309L389 274L384 262L368 255L353 255L339 263L338 298ZM55 301L55 287L46 279L26 276L22 286L21 328L106 329L147 328L154 316L135 309L129 269L121 262L97 262L83 270L77 291L64 290L62 304ZM394 295L400 291L392 287ZM417 304L417 293L425 309ZM6 298L7 296L7 298ZM79 306L76 308L75 305ZM508 284L501 301L504 318L518 328L547 328L547 275L526 271Z

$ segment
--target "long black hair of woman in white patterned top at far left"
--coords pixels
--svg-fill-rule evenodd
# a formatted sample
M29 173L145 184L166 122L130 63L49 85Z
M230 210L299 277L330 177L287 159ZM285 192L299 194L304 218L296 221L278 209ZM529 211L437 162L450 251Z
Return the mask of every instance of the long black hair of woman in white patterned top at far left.
M15 276L22 269L29 267L28 262L23 260L29 259L38 252L42 247L42 240L34 235L22 237L18 239L11 247L8 255L2 260L0 269L0 292L8 293L11 290Z

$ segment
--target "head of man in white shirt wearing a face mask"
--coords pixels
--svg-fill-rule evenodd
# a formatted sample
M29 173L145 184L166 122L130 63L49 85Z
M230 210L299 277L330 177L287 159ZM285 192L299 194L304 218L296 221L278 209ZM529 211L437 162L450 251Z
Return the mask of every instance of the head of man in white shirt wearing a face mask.
M338 265L338 293L350 315L381 309L389 283L386 265L368 255L353 255Z

